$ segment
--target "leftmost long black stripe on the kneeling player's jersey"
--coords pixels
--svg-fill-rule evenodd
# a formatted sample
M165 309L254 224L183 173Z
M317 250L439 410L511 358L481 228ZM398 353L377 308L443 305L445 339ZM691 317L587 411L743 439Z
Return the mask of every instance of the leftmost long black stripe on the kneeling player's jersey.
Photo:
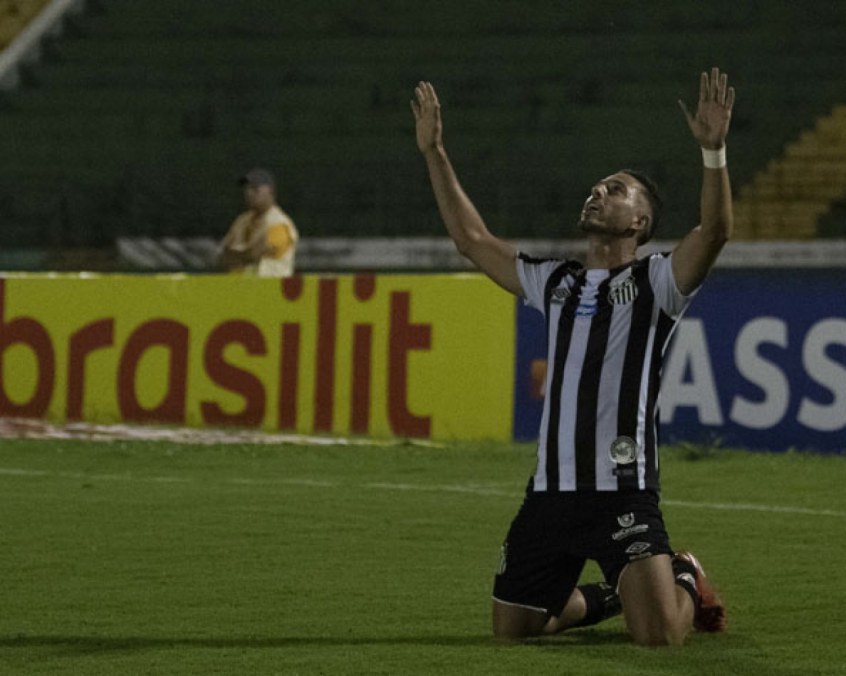
M581 266L579 266L581 267ZM573 268L576 269L576 268ZM553 277L558 276L560 272L556 270ZM558 276L558 282L552 283L552 277L547 284L544 291L546 298L546 321L547 321L547 335L549 335L549 305L552 297L552 291L558 286L561 279L564 278L569 270L565 270L563 274ZM549 384L549 424L547 425L546 435L546 489L548 491L559 490L560 472L558 468L558 429L561 422L561 383L564 380L564 364L567 361L567 353L570 351L570 339L573 335L573 320L576 316L576 307L579 304L579 297L582 293L582 287L587 280L586 276L580 274L576 278L575 284L571 288L570 296L564 301L561 307L561 314L558 318L558 331L556 333L557 339L555 342L555 357L551 364L552 379ZM547 377L549 376L550 368L547 367Z

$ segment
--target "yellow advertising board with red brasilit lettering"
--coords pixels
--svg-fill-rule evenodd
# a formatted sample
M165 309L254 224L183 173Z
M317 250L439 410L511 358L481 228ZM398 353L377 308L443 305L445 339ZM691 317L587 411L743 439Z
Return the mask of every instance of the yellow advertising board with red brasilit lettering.
M478 275L0 279L0 416L510 439L515 302Z

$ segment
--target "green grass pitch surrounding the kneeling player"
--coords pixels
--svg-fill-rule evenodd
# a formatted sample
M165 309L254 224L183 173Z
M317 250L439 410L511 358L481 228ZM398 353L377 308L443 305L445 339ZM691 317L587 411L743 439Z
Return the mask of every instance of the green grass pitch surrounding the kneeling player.
M843 457L666 449L729 632L649 649L619 618L489 638L529 446L0 449L2 673L846 673Z

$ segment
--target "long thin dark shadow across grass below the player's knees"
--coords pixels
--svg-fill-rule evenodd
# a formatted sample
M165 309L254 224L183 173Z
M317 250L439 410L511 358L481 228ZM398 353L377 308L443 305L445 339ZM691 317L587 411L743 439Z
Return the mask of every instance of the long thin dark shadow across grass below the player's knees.
M618 632L578 631L567 635L527 639L513 645L564 647L566 645L624 644L629 640ZM58 649L71 653L137 652L160 648L267 649L295 647L340 647L378 645L419 646L508 646L491 636L279 636L279 637L198 637L170 638L147 636L18 636L0 637L0 649Z

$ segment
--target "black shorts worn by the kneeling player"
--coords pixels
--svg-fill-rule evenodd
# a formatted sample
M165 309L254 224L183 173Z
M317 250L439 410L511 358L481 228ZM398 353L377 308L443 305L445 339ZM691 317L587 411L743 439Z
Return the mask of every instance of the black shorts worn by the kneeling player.
M672 554L652 492L528 492L502 545L497 601L560 615L588 559L617 586L627 563Z

